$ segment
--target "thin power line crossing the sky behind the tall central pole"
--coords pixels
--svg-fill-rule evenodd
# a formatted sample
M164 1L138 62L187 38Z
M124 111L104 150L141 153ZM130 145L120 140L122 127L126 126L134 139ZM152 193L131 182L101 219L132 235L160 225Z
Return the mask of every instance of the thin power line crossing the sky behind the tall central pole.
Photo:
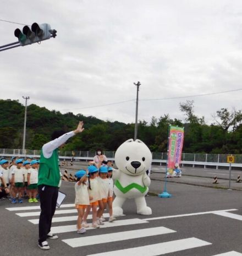
M215 95L215 94L224 94L224 93L227 93L227 92L241 91L241 90L242 90L242 88L241 89L235 89L235 90L228 90L228 91L210 92L210 93L207 93L207 94L195 94L195 95L169 97L169 98L161 98L161 99L143 99L143 100L140 100L140 101L176 100L176 99L184 99L184 98L191 98L191 97L201 97L201 96L208 96L208 95ZM81 107L81 108L72 108L72 109L66 108L66 109L61 110L61 111L84 110L84 109L87 109L87 108L105 107L105 106L111 106L111 105L118 105L118 104L122 104L122 103L125 103L125 102L130 102L130 101L135 101L135 99L113 102L113 103L103 104L103 105L90 106L90 107Z

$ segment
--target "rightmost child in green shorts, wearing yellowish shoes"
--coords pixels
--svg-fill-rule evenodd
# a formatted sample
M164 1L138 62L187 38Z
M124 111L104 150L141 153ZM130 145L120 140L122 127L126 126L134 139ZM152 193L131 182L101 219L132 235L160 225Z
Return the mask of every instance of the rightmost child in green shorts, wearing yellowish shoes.
M27 168L27 189L29 192L29 203L38 203L36 195L38 192L38 161L32 160L31 162L26 162Z

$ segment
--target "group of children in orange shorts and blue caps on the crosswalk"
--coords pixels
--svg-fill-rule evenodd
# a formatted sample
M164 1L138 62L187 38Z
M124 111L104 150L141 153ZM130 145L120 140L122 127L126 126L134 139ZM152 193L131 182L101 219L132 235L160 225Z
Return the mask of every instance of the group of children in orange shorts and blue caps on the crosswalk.
M103 165L99 169L90 165L87 170L80 170L75 173L75 208L78 210L77 232L86 232L87 216L92 209L92 227L99 228L104 225L103 211L108 204L109 222L116 220L113 217L113 168ZM98 208L98 209L97 209Z

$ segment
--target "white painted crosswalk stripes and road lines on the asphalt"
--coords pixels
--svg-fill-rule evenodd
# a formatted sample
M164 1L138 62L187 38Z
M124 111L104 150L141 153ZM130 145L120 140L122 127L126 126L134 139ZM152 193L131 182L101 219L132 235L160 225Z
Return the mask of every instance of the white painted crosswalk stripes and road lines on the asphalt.
M202 239L196 237L186 237L183 239L175 239L167 242L158 242L154 244L148 244L144 246L139 246L140 243L132 246L127 241L139 241L142 238L148 237L156 237L161 236L165 237L168 234L179 233L179 231L172 230L171 228L167 228L164 226L156 226L150 227L153 220L159 219L171 219L171 218L179 218L179 217L188 217L188 216L197 216L197 215L205 215L205 214L214 214L222 217L228 217L236 220L242 220L242 216L238 214L230 213L230 211L235 211L237 209L226 209L226 210L218 210L218 211L206 211L202 213L190 213L190 214L180 214L180 215L172 215L172 216L157 216L157 217L149 217L144 218L141 216L140 218L129 218L128 216L123 215L122 217L117 217L117 220L110 223L105 222L105 225L101 227L101 230L105 230L105 233L96 233L95 232L87 232L86 235L79 235L76 233L76 209L74 209L74 204L63 204L61 208L56 210L56 213L52 219L52 223L54 224L51 232L55 234L62 233L62 242L69 246L70 248L83 248L83 247L92 247L99 246L100 244L106 243L117 243L117 242L125 242L126 248L123 249L114 249L109 252L98 252L95 254L85 254L88 256L133 256L133 255L145 255L145 256L156 256L156 255L164 255L167 253L180 252L183 250L192 250L194 248L211 246L212 243L210 241L204 241ZM11 207L5 208L8 211L11 211L13 214L17 215L20 218L23 218L26 221L31 222L31 224L38 224L38 216L40 215L40 206L21 206L21 207ZM36 219L32 219L35 217ZM105 213L104 217L109 217L109 214ZM90 214L87 217L88 220L92 219L92 215ZM73 221L72 225L64 225L63 222ZM140 225L141 224L141 225ZM122 231L118 228L123 226ZM131 228L130 228L131 227ZM87 230L93 230L94 228L89 227ZM88 234L89 233L89 234ZM72 234L71 236L69 234ZM161 241L161 240L160 240ZM166 241L166 239L165 239ZM115 248L115 247L114 247ZM184 254L185 255L185 254ZM242 256L242 253L236 251L223 252L221 254L216 255L207 255L207 256Z

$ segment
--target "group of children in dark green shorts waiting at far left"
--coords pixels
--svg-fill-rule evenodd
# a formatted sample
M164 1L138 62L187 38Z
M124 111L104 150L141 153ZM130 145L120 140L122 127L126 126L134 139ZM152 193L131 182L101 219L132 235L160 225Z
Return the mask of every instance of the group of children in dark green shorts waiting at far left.
M23 203L23 196L27 194L29 203L37 203L38 160L19 159L12 157L12 161L2 158L0 161L1 188L8 189L11 203ZM7 193L8 194L8 193Z

